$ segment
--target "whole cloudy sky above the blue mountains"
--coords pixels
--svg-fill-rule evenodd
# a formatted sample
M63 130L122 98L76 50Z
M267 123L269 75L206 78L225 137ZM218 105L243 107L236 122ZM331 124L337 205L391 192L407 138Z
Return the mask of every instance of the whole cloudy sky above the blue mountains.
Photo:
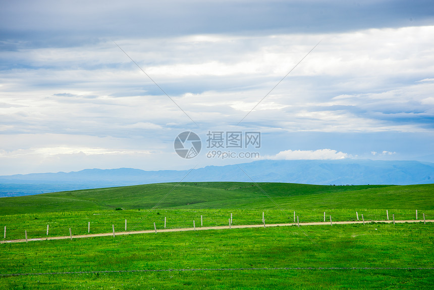
M0 175L434 162L432 1L0 2Z

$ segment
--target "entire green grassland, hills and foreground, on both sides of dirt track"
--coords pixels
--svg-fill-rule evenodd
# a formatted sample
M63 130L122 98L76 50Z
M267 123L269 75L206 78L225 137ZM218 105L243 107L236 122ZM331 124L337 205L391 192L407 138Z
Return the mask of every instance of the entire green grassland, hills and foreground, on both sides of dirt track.
M252 186L253 185L253 186ZM0 199L7 239L128 230L322 221L434 217L433 184L321 186L290 183L202 182L148 184ZM266 195L274 202L272 202ZM170 192L170 193L169 193ZM168 194L169 193L169 194ZM150 209L167 197L152 211ZM277 205L276 205L277 204ZM115 210L123 208L124 210ZM366 225L245 228L166 232L0 245L0 273L210 270L0 276L5 289L429 289L434 288L434 225ZM2 236L3 238L3 236ZM395 269L321 269L330 267ZM424 269L396 269L424 268Z

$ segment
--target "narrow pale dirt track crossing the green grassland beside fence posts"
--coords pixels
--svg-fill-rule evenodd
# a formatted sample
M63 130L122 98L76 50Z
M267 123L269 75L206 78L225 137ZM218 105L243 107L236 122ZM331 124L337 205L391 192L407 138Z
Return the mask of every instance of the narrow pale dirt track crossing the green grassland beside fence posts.
M376 220L376 221L365 221L365 223L370 222L385 222L385 223L393 223L391 220ZM405 222L423 222L423 220L396 220L395 223L405 223ZM434 222L434 220L426 220L426 222ZM336 224L354 224L354 223L363 223L363 221L336 221L333 222L333 225ZM208 229L229 229L229 228L248 228L248 227L274 227L274 226L296 226L297 223L275 223L275 224L252 224L252 225L225 225L225 226L202 226L202 227L188 227L188 228L170 228L170 229L157 229L158 232L169 232L169 231L190 231L190 230L208 230ZM331 225L329 222L303 222L300 223L300 226L304 225ZM115 235L123 235L123 234L138 234L138 233L155 233L155 230L137 230L137 231L121 231L115 232ZM90 234L79 234L72 235L72 238L82 238L82 237L95 237L95 236L113 236L113 232L105 232L105 233L90 233ZM48 240L48 239L67 239L71 238L69 235L65 236L48 236L48 237L40 237L40 238L28 238L28 241L34 240ZM26 241L26 239L12 239L12 240L1 240L0 244L5 243L22 243Z

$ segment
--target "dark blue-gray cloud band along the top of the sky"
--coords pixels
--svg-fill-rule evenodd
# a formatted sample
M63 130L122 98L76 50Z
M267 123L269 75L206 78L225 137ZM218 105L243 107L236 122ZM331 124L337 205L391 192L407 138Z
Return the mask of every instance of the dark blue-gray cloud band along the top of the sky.
M19 1L3 3L0 32L32 47L91 44L100 37L344 32L426 25L433 8L424 0ZM15 50L8 45L4 49Z

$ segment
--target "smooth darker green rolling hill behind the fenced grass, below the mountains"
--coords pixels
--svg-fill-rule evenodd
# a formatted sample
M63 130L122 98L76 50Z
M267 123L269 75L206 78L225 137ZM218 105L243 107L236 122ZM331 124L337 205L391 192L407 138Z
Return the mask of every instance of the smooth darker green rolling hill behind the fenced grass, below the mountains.
M253 186L252 186L253 185ZM434 210L434 184L329 186L293 183L199 182L146 184L0 199L0 215L159 208L420 209ZM173 189L173 190L172 190ZM172 191L171 191L172 190Z

